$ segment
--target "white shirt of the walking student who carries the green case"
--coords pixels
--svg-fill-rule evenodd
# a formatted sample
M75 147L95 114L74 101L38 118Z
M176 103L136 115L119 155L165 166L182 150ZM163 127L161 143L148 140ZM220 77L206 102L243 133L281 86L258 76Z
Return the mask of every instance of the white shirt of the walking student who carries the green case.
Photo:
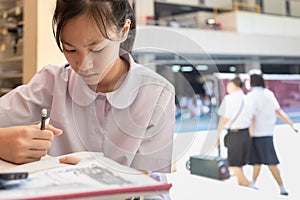
M239 112L242 103L243 107ZM251 121L251 110L244 92L238 90L227 94L220 105L218 114L228 120L225 124L226 129L248 128ZM235 117L237 114L238 116ZM236 119L234 120L234 118Z

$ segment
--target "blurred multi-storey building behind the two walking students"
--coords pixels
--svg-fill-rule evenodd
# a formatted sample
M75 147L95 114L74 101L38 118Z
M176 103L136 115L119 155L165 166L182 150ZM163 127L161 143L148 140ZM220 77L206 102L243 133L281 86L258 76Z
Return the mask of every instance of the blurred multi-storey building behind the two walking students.
M217 111L226 81L237 74L246 81L251 70L265 75L281 106L299 121L300 2L132 2L139 27L134 55L175 85L182 114L178 132L191 131L191 124L214 129L216 120L208 115ZM187 108L193 99L195 108ZM213 123L208 127L206 120Z

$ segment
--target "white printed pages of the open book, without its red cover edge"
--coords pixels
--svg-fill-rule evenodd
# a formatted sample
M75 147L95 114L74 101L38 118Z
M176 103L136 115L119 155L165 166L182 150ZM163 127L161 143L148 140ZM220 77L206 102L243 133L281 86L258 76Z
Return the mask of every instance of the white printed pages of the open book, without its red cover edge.
M54 167L56 162L55 158L50 158L40 161L40 164L52 163L51 167ZM25 166L28 168L28 165ZM120 165L97 153L85 154L77 165L53 169L48 169L49 166L44 167L46 170L41 171L40 166L38 172L31 173L28 179L19 181L19 186L0 190L0 199L35 198L162 185L138 170Z

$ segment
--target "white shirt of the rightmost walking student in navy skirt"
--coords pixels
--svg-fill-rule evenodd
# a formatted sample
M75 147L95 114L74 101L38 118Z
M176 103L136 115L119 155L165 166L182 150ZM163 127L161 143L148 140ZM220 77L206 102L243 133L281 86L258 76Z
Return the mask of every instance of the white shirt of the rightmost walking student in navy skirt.
M254 87L247 94L255 115L253 134L255 137L273 136L277 120L276 110L280 105L269 89Z

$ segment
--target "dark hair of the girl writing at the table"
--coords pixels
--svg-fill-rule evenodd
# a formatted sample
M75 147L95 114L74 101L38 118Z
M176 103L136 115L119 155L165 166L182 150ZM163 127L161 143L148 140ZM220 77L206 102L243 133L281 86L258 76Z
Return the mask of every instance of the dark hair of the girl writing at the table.
M108 26L118 31L124 26L125 20L131 21L127 39L121 43L121 49L131 52L135 39L135 15L128 0L57 0L52 19L52 30L57 46L62 51L60 33L64 25L76 16L87 14L106 39L111 39Z

